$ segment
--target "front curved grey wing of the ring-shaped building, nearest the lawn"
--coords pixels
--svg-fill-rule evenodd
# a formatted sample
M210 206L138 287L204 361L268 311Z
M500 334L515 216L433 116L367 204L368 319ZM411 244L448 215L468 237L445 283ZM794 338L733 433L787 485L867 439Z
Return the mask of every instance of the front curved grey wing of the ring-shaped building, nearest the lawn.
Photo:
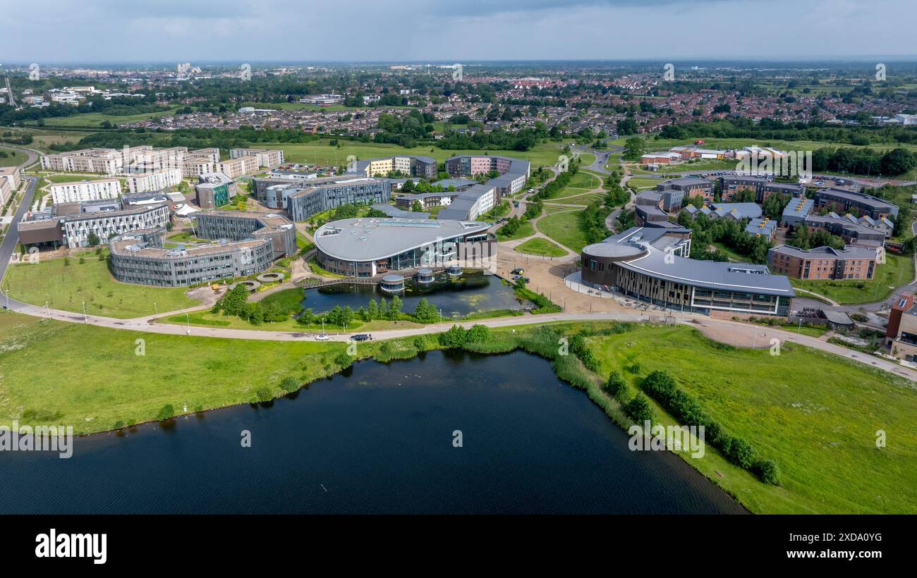
M271 239L218 241L212 245L163 248L162 229L138 230L111 241L112 274L124 283L187 287L255 275L271 268Z

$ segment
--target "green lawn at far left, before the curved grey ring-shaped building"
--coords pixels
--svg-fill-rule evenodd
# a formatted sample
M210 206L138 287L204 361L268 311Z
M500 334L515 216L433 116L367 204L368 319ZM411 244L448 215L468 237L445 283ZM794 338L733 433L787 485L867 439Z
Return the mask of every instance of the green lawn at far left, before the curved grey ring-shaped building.
M186 288L158 288L119 283L94 251L64 259L42 260L31 265L12 265L3 280L10 296L26 303L44 305L62 311L86 312L118 319L152 315L156 311L177 311L198 305L185 297ZM107 255L107 252L103 253ZM156 304L155 306L153 304Z

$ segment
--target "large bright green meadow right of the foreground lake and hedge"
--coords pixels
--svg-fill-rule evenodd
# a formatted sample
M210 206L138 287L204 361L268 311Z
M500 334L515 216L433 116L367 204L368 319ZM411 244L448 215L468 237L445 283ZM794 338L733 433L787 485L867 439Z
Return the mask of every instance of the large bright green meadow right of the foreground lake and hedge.
M781 486L765 485L729 465L708 444L686 461L753 512L917 512L917 391L866 365L795 344L729 349L688 327L657 327L589 339L602 360L640 375L657 369L701 402L726 431L776 461ZM800 368L805 368L800 371ZM655 404L654 404L655 405ZM656 408L662 423L674 423ZM876 448L876 432L888 447Z

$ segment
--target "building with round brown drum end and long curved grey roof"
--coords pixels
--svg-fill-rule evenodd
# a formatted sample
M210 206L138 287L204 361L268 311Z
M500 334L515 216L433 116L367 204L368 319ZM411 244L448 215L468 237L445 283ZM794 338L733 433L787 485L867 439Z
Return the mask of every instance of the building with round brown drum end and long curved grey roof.
M632 227L581 254L578 279L594 289L621 292L672 311L718 317L788 317L790 279L763 265L688 258L691 229Z

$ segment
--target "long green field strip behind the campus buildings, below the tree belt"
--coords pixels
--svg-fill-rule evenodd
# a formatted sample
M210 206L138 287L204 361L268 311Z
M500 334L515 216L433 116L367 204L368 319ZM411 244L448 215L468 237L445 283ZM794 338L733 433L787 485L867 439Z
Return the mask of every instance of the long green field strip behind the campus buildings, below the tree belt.
M396 145L381 145L375 143L358 143L354 141L340 141L340 147L328 146L328 139L320 139L311 143L259 143L259 147L280 148L283 150L284 158L287 162L320 164L320 165L344 165L347 164L348 155L356 155L357 158L387 157L392 155L423 155L426 157L436 158L436 161L443 162L449 157L458 155L480 155L482 150L446 150L437 147L414 147L405 148ZM548 143L536 145L531 150L520 152L518 150L488 150L490 155L502 155L506 157L525 158L532 163L532 169L539 166L549 167L558 162L558 155L563 147L563 143Z

